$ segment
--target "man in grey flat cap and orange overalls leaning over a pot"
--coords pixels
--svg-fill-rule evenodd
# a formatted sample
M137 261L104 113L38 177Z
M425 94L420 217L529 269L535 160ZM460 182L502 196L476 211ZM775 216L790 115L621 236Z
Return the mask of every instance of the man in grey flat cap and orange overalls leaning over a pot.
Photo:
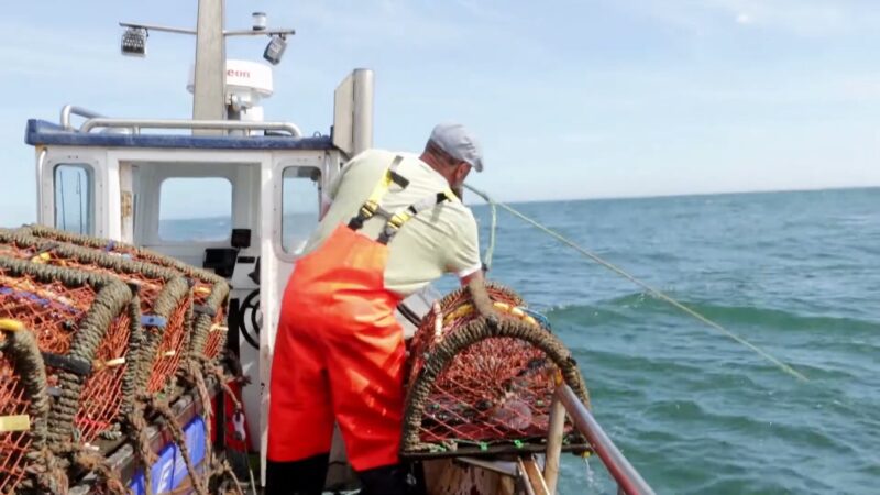
M334 419L362 494L407 493L406 351L394 312L444 273L482 286L476 222L461 202L471 168L483 169L476 140L438 124L421 156L365 151L327 188L282 302L266 495L322 492Z

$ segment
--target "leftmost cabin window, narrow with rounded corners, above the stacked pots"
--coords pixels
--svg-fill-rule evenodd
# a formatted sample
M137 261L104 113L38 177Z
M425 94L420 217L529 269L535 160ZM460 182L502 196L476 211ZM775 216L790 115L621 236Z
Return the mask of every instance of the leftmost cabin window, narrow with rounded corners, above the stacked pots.
M95 234L95 179L86 164L55 166L55 228Z

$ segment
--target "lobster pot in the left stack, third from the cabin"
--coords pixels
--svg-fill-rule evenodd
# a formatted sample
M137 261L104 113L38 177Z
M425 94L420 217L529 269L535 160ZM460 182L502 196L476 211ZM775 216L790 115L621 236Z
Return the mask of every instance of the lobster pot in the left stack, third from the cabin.
M0 493L22 479L29 449L88 443L118 428L139 318L136 297L119 280L0 256L0 416L26 414L31 424L0 431ZM33 342L26 359L15 345L22 339Z

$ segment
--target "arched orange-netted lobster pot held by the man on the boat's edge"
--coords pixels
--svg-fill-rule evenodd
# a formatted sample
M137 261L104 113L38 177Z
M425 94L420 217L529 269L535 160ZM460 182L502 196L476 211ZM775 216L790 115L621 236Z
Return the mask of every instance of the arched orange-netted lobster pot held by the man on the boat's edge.
M461 288L435 302L413 338L406 457L538 450L558 383L587 404L571 353L546 320L509 289L486 288L491 300ZM564 442L582 443L568 422Z

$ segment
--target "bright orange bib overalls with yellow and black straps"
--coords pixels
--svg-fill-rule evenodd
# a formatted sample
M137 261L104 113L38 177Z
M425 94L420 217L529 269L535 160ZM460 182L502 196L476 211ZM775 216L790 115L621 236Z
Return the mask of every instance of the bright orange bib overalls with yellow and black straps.
M330 451L333 419L356 471L396 464L404 409L402 297L385 288L387 243L420 210L454 198L447 190L389 215L380 204L408 182L396 157L348 226L300 257L284 293L272 363L268 459L297 461ZM377 240L356 231L387 219Z

